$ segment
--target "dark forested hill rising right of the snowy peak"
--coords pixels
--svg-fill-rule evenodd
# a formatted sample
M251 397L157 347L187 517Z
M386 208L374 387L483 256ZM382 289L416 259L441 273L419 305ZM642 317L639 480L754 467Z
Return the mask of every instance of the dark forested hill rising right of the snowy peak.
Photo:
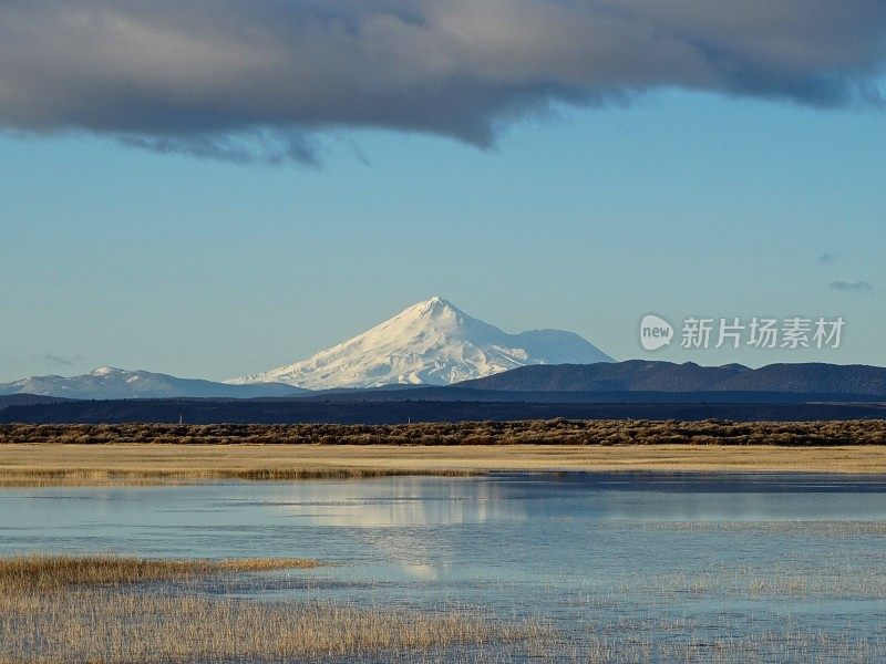
M453 387L506 392L759 392L883 396L886 369L865 364L741 364L627 362L522 366Z

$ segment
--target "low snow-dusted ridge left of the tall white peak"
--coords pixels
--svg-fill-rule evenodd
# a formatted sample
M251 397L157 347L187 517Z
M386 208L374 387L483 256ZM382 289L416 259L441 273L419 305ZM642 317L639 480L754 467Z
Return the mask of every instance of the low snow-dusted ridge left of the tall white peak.
M229 385L198 378L177 378L147 371L103 366L81 376L32 376L0 384L0 394L38 394L68 398L167 398L289 396L302 390L291 385Z

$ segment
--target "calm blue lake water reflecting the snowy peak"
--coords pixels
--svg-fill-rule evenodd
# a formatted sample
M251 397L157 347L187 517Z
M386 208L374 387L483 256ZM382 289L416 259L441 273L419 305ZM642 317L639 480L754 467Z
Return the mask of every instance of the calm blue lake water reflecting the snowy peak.
M0 490L0 552L319 558L236 592L540 616L577 639L886 641L886 484L495 475ZM870 651L874 652L874 651ZM872 655L873 656L873 655Z

